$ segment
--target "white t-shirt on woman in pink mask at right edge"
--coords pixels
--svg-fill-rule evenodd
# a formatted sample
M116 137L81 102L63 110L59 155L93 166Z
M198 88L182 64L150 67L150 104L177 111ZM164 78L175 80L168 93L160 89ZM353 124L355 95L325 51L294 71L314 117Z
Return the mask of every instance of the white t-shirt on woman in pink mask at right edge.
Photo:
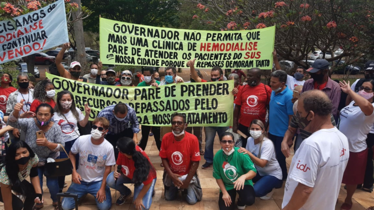
M353 104L354 101L340 110L338 128L348 138L349 151L358 153L368 147L366 138L373 127L374 111L366 116L358 105Z

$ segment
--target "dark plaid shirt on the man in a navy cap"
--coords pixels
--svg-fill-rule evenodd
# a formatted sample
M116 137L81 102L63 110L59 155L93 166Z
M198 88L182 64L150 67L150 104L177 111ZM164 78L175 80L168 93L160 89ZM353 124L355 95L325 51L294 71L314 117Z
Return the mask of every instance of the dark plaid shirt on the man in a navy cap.
M307 81L305 81L301 92L305 92L305 91L312 90L312 89L314 89L314 80L313 79L308 79ZM334 117L336 117L337 116L337 107L339 106L340 94L341 94L339 84L337 82L331 80L330 78L328 78L327 83L326 83L326 87L323 88L322 91L324 93L326 93L326 95L329 97L329 99L333 103L332 113L333 113Z

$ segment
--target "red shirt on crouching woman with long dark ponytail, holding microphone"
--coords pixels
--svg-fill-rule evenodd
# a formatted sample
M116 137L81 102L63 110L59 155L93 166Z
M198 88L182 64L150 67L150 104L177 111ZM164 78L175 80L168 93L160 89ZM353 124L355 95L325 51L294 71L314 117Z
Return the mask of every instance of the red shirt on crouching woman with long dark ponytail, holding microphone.
M135 146L136 151L140 152L144 157L147 157L148 161L150 162L150 158L147 156L147 154L140 148L138 145ZM132 180L132 177L134 175L135 166L134 161L132 159L127 158L122 153L118 154L118 159L116 162L117 165L122 165L122 174L127 176L129 179ZM154 169L152 163L150 162L150 174L147 177L147 180L143 182L144 185L148 185L152 183L153 179L157 177L156 170Z

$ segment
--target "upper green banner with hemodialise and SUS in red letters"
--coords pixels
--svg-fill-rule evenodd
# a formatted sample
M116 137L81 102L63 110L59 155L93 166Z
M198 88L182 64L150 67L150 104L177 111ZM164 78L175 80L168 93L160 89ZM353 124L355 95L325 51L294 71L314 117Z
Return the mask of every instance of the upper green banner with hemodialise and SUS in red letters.
M160 28L100 18L104 64L186 68L271 69L275 26L246 31Z

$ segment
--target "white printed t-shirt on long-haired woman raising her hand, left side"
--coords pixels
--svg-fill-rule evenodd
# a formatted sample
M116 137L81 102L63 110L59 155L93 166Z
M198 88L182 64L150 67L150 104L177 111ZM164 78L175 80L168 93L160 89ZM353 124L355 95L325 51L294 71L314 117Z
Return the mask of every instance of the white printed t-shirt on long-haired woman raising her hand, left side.
M54 122L60 126L62 131L62 136L65 140L65 142L75 140L79 137L79 131L78 131L78 122L82 121L84 119L84 115L82 114L82 111L80 111L77 107L75 108L76 111L79 114L79 120L76 120L75 116L73 115L73 112L70 110L68 113L64 114L65 117L59 114L54 115Z

